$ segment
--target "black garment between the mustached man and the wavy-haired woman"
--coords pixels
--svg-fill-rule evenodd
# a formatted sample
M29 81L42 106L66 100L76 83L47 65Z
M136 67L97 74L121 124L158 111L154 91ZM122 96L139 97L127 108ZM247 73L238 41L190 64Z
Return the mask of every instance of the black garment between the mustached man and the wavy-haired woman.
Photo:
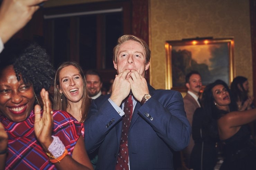
M192 137L195 145L190 157L190 168L193 170L213 170L217 163L216 143L219 137L213 132L213 127L217 127L217 124L210 120L204 114L203 108L195 110L192 121Z

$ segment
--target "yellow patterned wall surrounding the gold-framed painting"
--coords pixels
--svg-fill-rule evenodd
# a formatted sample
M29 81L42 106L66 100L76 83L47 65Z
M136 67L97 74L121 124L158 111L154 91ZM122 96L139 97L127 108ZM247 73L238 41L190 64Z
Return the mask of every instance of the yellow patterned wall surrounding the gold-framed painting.
M151 84L165 89L165 41L234 37L235 75L252 85L249 0L149 0Z

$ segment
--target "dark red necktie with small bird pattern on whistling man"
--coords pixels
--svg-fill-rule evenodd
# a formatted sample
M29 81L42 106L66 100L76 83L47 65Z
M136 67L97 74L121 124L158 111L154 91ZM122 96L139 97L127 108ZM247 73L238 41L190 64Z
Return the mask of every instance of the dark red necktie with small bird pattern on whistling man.
M117 156L116 170L129 170L129 160L128 160L128 130L130 127L131 116L132 116L132 99L131 94L125 100L124 112L122 125L122 136L119 146L119 152Z

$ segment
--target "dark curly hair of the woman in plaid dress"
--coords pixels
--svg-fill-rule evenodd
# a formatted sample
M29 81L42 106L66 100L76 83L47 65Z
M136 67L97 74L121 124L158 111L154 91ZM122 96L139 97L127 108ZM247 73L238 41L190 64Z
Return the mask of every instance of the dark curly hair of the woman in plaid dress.
M25 84L33 85L36 95L40 95L42 88L48 90L53 85L55 71L49 56L36 43L23 40L8 42L0 54L1 70L8 65L13 65L18 81L21 74Z

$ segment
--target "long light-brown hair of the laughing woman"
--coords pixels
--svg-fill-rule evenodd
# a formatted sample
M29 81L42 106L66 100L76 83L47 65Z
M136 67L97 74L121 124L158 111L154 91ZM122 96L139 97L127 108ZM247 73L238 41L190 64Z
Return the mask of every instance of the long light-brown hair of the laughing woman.
M87 85L86 85L86 79L83 73L83 70L81 68L81 66L76 63L76 62L64 62L62 63L55 74L55 78L54 78L54 102L53 102L53 109L54 110L64 110L67 111L67 98L64 95L60 94L60 72L62 70L62 68L67 67L67 66L74 66L77 68L77 70L79 71L79 74L82 77L82 81L83 81L83 96L81 98L82 100L82 105L81 105L81 113L82 113L82 117L81 117L81 123L84 122L84 120L86 119L88 110L89 110L89 106L90 106L90 99L87 95ZM61 102L62 99L62 102Z

